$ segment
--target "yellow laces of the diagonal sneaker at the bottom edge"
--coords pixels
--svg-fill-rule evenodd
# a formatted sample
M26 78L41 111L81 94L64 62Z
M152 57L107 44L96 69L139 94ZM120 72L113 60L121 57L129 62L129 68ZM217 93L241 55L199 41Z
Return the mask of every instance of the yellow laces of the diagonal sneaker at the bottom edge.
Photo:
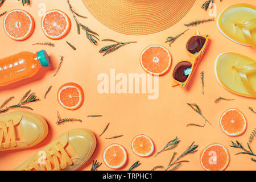
M59 151L53 147L49 148L51 154L43 151L46 154L44 163L42 164L37 161L39 159L36 159L33 163L29 164L24 171L32 171L33 169L36 171L60 171L60 169L63 170L67 168L68 165L72 166L73 161L67 154L67 151L65 151L63 145L60 142L56 145Z

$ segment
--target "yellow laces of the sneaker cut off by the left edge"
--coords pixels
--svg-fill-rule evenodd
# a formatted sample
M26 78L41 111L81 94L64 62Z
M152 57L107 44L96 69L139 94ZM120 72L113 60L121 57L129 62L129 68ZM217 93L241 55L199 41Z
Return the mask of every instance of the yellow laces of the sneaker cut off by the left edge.
M0 122L0 147L4 149L17 146L13 120L9 120L8 123L9 129L7 130L6 123Z

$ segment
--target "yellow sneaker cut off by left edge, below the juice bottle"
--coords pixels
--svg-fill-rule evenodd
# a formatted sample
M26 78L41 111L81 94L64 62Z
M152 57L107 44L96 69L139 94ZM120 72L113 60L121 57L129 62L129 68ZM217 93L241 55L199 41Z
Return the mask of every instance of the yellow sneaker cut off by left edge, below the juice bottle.
M38 114L15 111L0 115L0 152L35 146L47 134L47 122Z

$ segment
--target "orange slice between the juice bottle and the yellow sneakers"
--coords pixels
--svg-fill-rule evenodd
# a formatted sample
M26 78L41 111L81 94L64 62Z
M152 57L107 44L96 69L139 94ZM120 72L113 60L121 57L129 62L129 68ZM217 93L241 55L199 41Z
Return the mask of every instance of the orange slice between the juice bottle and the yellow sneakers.
M84 91L75 83L67 83L59 88L58 101L65 109L76 110L84 102Z

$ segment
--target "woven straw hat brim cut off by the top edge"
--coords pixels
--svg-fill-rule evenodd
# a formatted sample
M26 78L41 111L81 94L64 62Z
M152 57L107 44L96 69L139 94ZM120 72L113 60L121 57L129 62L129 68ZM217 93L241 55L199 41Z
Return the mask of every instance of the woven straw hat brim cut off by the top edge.
M128 35L146 35L179 22L195 0L82 0L106 27Z

